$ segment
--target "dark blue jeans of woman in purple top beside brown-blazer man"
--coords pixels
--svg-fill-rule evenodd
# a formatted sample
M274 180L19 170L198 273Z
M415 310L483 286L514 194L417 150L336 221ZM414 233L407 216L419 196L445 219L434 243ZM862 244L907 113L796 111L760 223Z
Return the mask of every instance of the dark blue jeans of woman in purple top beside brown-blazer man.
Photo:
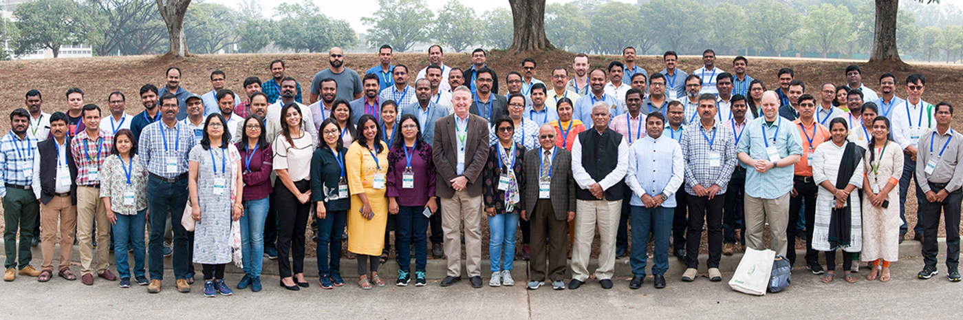
M398 253L398 270L404 272L411 271L411 250L410 244L415 244L415 271L425 272L428 264L428 224L422 212L425 206L403 206L398 207L398 215L395 216L397 229L395 230L395 252Z

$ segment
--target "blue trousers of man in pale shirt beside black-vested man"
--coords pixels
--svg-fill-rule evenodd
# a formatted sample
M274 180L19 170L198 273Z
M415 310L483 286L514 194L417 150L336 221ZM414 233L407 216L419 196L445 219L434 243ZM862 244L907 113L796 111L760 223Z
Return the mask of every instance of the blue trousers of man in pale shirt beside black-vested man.
M656 246L652 260L653 275L664 275L668 270L668 238L672 232L672 216L675 208L655 207L646 208L644 206L632 206L632 253L630 262L632 263L632 274L634 276L645 277L645 263L648 259L646 253L649 248L649 234L655 238Z

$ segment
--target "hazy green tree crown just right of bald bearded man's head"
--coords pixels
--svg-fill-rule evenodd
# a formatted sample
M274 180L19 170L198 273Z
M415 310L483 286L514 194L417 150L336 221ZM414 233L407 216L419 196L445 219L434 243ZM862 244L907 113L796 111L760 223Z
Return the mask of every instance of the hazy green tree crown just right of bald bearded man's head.
M424 0L377 0L373 16L361 21L368 29L368 44L379 47L386 43L395 51L407 51L419 41L427 41L434 13Z

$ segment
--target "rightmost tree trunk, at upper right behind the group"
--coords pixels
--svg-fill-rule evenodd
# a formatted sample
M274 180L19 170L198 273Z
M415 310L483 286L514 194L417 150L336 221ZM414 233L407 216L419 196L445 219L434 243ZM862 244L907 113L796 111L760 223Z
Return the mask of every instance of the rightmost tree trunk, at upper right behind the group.
M897 51L898 0L875 0L876 25L872 35L870 64L884 64L900 69L909 67L899 59Z

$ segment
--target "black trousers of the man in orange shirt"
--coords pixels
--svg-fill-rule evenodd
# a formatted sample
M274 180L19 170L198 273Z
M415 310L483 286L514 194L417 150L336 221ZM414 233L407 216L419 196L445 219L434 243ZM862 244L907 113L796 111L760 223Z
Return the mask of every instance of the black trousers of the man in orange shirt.
M786 227L786 241L789 244L786 249L786 258L789 264L795 263L795 237L799 230L795 227L799 221L799 207L805 201L806 206L806 264L815 265L819 263L816 251L813 250L813 220L816 220L816 194L819 189L812 176L795 175L793 176L793 188L798 194L789 199L789 227Z

